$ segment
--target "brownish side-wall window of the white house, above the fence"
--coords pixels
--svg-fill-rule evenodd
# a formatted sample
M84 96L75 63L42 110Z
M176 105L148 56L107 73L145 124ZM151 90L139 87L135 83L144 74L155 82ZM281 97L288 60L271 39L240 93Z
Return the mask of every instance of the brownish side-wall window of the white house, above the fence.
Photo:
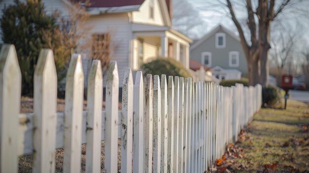
M110 40L108 33L91 35L91 58L101 60L102 66L110 61Z

